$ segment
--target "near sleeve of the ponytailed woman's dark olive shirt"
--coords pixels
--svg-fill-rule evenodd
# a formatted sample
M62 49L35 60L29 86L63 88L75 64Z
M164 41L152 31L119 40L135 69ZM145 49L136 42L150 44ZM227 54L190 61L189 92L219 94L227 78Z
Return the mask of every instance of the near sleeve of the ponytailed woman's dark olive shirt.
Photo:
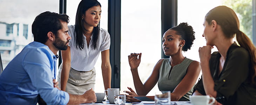
M249 60L249 53L243 48L237 48L230 53L221 77L214 82L217 97L224 96L228 99L236 92L238 87L248 78Z

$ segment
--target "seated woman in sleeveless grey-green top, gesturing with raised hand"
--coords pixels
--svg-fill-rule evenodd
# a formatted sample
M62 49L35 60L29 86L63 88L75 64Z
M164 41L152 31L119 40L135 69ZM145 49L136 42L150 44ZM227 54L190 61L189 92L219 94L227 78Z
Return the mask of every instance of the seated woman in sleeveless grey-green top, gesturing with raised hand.
M193 92L201 68L199 62L184 57L182 51L191 48L195 40L194 34L193 28L188 23L180 23L180 25L168 29L163 34L162 49L164 54L170 57L160 59L156 63L153 72L144 84L142 84L137 70L141 61L141 53L132 53L128 56L137 92L136 94L128 87L131 91L126 91L129 93L127 95L128 102L138 101L133 97L146 96L157 82L160 91L171 92L171 101L189 101L189 95ZM154 96L147 97L154 100Z

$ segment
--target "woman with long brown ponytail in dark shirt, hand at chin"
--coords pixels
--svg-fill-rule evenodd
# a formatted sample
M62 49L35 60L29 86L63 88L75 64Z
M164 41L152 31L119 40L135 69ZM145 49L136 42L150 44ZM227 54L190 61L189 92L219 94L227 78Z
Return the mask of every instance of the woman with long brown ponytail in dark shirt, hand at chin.
M193 95L210 95L224 105L256 105L256 49L240 31L235 12L215 7L206 14L203 26L202 79ZM233 41L235 35L239 45ZM211 54L214 46L218 51Z

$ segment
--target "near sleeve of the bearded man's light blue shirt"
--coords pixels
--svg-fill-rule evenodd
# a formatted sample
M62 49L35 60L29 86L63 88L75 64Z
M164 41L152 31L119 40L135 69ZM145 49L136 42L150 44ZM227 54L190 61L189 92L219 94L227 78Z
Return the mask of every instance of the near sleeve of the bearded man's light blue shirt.
M36 57L36 59L34 58ZM23 68L28 73L32 85L36 88L47 105L65 105L69 94L53 87L54 61L47 50L30 51L23 59Z

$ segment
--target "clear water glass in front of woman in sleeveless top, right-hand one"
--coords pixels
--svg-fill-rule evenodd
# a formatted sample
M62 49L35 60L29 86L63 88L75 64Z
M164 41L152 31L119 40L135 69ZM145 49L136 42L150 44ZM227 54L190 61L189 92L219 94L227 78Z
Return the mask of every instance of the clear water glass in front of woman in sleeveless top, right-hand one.
M170 91L163 91L162 93L155 95L155 105L171 105Z

